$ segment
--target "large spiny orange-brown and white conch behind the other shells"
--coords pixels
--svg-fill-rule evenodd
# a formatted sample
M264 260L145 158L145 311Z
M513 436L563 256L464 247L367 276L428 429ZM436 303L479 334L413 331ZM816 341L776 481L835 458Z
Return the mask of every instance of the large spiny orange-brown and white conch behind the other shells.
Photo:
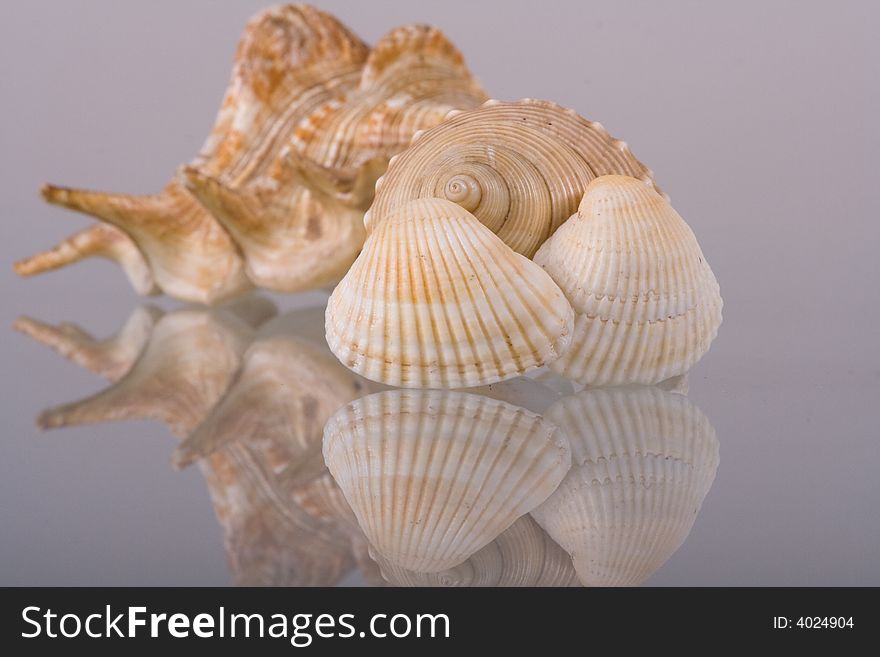
M45 187L50 203L119 230L87 229L16 270L104 255L140 292L209 304L252 285L335 282L363 244L363 212L388 158L451 108L485 98L436 28L397 28L370 50L308 5L266 9L245 27L199 155L150 196Z

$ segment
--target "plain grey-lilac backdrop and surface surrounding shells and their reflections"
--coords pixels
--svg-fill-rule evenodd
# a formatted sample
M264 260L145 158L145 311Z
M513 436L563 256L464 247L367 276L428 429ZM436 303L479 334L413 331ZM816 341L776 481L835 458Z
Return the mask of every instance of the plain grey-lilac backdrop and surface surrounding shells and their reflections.
M123 275L96 261L18 280L12 262L87 223L44 205L42 182L151 192L197 152L262 6L4 5L0 584L229 581L201 476L171 469L164 427L33 427L43 407L103 383L13 320L107 335L139 303ZM433 23L495 97L602 121L696 232L725 318L690 397L721 465L650 583L880 584L876 3L319 6L368 41Z

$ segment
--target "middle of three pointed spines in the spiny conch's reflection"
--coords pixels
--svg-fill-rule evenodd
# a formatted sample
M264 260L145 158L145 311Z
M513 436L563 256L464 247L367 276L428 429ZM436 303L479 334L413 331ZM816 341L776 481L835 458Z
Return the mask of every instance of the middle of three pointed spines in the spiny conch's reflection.
M244 316L236 310L242 308ZM42 429L132 418L165 422L179 437L198 426L238 371L259 321L274 305L259 300L224 310L184 309L156 322L131 369L109 388L40 414Z

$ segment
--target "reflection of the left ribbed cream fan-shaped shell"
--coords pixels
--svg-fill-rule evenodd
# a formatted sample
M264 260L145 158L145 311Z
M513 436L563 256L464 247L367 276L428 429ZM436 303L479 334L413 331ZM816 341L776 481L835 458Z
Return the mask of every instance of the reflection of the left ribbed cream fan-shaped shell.
M421 572L460 564L544 501L569 467L565 437L486 397L394 390L333 414L324 459L370 544Z

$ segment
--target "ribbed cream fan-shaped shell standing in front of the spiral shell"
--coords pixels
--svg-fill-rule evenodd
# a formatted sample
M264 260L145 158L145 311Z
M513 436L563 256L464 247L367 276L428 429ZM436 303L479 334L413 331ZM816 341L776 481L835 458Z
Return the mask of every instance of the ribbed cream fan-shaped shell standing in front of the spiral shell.
M572 310L540 267L443 199L378 225L327 304L327 343L358 374L401 387L500 381L556 359Z

